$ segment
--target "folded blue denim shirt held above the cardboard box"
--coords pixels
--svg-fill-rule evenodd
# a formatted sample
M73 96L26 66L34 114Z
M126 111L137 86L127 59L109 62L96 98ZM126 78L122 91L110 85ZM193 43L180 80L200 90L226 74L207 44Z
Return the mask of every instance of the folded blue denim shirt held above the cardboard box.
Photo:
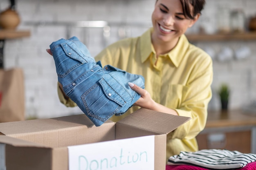
M58 82L65 94L95 124L100 126L112 115L122 115L140 97L128 82L144 88L144 77L127 73L110 65L102 68L87 47L72 37L50 45Z

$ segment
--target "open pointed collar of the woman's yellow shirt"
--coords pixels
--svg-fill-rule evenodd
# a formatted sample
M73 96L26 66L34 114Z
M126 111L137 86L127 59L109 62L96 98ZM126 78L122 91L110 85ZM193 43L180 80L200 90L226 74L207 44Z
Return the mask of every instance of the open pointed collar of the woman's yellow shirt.
M151 53L155 53L153 44L151 43L151 33L153 28L148 29L144 34L141 35L140 40L140 49L141 49L141 62L145 62ZM168 55L171 62L178 67L180 62L183 59L183 56L186 52L186 49L189 48L189 41L186 36L183 34L180 36L180 39L177 45L169 52L164 55ZM150 50L148 50L150 49Z

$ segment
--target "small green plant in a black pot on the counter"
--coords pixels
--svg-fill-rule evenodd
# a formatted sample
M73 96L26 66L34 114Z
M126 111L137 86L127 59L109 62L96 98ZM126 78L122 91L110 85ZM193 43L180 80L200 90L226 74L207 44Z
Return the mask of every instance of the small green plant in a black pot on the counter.
M221 102L221 108L222 110L228 109L228 103L229 103L229 86L227 84L222 84L220 86L220 89L218 91L220 95L220 102Z

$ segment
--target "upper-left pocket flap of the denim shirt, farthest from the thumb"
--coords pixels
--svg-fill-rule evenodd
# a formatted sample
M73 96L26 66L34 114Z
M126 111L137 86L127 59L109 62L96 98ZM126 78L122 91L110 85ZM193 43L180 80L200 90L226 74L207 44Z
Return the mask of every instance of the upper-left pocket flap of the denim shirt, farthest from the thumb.
M81 63L86 63L87 61L84 59L84 56L83 54L78 51L78 50L75 50L74 47L72 47L72 44L67 44L67 43L61 43L61 46L63 48L63 51L65 52L65 54L76 60L76 61L79 61Z

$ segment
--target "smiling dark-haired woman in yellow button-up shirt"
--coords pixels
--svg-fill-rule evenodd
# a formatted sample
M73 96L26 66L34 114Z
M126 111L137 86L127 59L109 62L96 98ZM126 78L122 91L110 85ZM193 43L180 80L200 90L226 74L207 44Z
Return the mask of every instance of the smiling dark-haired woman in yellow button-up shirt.
M196 151L195 137L204 129L207 106L211 99L213 68L211 57L190 44L184 33L200 18L204 0L157 0L152 13L153 28L139 37L126 38L103 49L95 60L145 78L145 89L132 84L141 95L119 121L138 108L191 117L191 120L168 134L166 161L180 151ZM65 99L66 106L74 102ZM171 123L171 122L170 122Z

